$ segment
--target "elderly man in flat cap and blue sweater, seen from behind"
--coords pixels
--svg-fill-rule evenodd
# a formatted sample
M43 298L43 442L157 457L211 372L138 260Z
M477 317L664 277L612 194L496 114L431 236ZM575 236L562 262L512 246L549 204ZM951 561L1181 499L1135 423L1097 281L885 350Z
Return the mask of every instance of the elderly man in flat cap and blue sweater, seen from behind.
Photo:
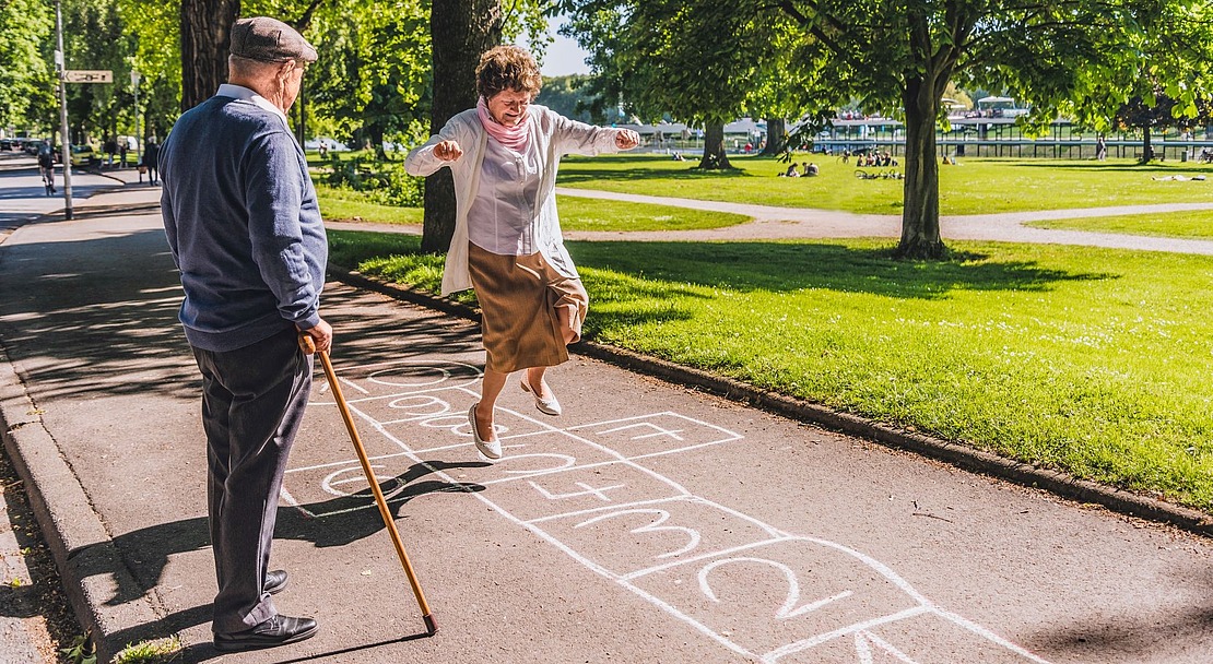
M328 350L320 317L328 244L303 150L286 125L317 58L273 18L232 28L228 80L164 143L160 208L186 299L181 322L203 374L209 514L218 594L215 647L267 648L317 631L270 594L278 492L312 384L300 331Z

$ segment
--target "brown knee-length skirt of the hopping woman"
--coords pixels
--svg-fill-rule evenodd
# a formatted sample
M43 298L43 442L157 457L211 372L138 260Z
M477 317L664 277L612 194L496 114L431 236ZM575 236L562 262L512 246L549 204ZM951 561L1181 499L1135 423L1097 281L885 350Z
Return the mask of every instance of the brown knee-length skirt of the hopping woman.
M509 373L569 359L557 310L568 309L573 340L580 339L590 307L580 279L553 270L541 253L500 256L472 242L467 263L480 303L485 370Z

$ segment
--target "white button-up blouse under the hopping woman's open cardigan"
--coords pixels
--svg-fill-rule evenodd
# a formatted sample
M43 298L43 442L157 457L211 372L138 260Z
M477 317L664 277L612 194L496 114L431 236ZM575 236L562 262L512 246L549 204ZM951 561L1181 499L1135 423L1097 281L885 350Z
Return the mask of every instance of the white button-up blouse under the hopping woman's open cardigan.
M537 141L523 153L492 137L484 145L480 187L467 212L467 236L473 245L499 256L530 256L535 242L535 199L542 181Z

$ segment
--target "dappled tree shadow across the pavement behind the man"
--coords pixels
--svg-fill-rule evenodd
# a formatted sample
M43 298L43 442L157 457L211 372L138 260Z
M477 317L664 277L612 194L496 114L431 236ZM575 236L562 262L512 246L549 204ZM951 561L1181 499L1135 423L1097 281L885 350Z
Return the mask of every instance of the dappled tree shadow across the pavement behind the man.
M132 254L149 258L132 269L126 264ZM149 391L198 399L200 379L177 320L181 282L161 231L5 245L0 265L0 338L27 372L24 382L39 387L40 400ZM342 365L382 361L387 347L393 359L479 348L432 317L400 322L336 314L353 297L343 291L321 298L321 314L336 332L338 372ZM410 340L417 337L425 343ZM154 371L132 372L132 364Z

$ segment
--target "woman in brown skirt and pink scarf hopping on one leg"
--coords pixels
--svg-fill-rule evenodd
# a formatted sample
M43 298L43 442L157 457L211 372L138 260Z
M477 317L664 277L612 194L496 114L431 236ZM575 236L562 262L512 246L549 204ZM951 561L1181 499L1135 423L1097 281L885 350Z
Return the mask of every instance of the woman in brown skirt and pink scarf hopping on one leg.
M569 359L565 347L581 338L590 304L556 212L560 156L630 150L640 138L531 105L542 78L518 46L484 53L475 78L477 107L409 153L405 170L428 176L445 166L455 178L455 236L442 292L475 288L486 360L468 424L480 454L496 460L494 407L509 373L526 370L522 389L541 412L560 414L543 373Z

